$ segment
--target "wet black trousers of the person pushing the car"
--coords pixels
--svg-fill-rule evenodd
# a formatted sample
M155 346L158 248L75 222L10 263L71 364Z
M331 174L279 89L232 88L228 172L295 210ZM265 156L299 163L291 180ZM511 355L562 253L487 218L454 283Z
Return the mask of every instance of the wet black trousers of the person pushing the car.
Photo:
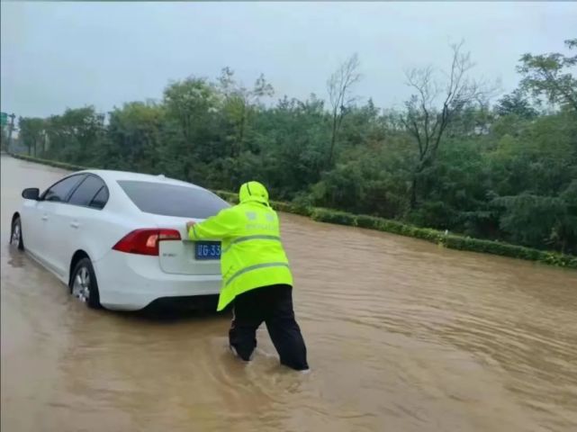
M250 359L257 347L257 329L264 321L281 364L297 371L309 368L307 348L294 320L292 286L271 285L242 293L234 300L233 311L230 346L240 358Z

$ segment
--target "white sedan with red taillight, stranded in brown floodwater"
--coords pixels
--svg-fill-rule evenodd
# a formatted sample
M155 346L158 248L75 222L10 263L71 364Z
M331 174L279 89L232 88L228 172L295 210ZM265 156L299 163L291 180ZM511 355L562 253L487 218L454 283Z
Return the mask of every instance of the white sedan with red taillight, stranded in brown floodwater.
M214 193L163 175L90 170L43 193L25 189L23 198L11 243L89 307L216 304L221 245L189 241L185 232L187 220L204 220L229 205Z

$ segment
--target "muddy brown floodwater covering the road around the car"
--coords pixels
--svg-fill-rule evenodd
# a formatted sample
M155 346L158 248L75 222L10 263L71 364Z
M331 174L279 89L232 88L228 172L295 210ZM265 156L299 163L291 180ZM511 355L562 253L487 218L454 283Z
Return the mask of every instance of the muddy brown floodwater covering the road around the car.
M283 215L311 374L228 316L89 311L8 247L24 187L2 157L2 430L577 431L577 272ZM25 235L25 233L24 233Z

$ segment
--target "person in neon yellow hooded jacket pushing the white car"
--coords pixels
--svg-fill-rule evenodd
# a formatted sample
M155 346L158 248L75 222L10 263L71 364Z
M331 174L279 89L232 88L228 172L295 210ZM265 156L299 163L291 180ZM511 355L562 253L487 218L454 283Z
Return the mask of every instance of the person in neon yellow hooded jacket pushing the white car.
M217 311L233 305L229 343L244 361L257 347L265 322L282 365L309 370L301 329L294 318L293 275L280 237L278 215L263 184L239 189L239 204L203 222L186 222L191 240L221 241L222 289Z

